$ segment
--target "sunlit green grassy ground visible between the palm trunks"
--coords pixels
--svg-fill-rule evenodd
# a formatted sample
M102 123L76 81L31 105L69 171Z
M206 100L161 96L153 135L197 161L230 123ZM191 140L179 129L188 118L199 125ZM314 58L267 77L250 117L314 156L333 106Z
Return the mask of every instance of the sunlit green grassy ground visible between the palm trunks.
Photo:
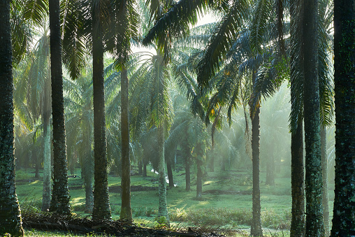
M131 207L136 227L159 228L157 215L158 175L148 166L147 177L131 176ZM184 170L173 171L175 187L167 188L169 219L173 229L208 228L233 231L233 236L248 236L252 221L252 172L247 170L208 171L203 178L203 197L196 199L196 175L191 173L191 190L185 190ZM148 168L147 168L148 169ZM20 207L39 211L41 208L43 174L34 178L34 169L16 171L16 190ZM71 209L80 217L85 210L85 188L80 169L68 176ZM268 236L289 236L291 223L291 178L287 173L275 173L275 186L265 184L261 171L261 222ZM113 220L119 219L121 180L109 175L108 188ZM329 210L333 210L333 185L329 184ZM332 213L331 213L332 215ZM226 234L227 235L227 234ZM26 229L25 236L80 236L62 232ZM96 234L93 236L97 236ZM105 236L105 235L102 235ZM228 234L230 236L230 234Z

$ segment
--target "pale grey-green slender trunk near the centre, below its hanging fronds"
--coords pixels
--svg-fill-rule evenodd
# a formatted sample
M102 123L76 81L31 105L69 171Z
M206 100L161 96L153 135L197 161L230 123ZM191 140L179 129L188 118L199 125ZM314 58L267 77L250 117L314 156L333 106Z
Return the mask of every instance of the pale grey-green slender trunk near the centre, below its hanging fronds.
M164 126L158 127L158 172L159 172L159 217L166 217L166 223L168 220L168 207L166 203L166 180L165 180L165 161L164 161Z

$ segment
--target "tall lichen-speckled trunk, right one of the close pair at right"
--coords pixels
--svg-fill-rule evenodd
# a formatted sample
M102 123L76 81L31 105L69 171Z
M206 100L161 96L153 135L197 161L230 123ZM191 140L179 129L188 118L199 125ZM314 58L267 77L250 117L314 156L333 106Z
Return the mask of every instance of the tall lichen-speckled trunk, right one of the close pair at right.
M317 0L303 1L305 236L324 236L318 82Z

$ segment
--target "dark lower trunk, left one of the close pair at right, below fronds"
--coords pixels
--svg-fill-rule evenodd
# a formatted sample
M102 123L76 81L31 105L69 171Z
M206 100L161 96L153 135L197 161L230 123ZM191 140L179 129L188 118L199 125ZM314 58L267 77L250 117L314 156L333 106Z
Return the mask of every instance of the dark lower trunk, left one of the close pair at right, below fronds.
M303 166L303 122L291 133L291 237L305 236L305 173Z

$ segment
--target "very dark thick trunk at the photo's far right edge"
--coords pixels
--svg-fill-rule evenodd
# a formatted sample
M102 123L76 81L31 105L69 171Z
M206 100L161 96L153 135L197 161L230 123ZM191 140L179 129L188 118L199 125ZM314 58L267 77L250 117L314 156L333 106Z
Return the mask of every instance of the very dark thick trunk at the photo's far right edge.
M334 1L335 199L331 236L355 236L355 0Z

